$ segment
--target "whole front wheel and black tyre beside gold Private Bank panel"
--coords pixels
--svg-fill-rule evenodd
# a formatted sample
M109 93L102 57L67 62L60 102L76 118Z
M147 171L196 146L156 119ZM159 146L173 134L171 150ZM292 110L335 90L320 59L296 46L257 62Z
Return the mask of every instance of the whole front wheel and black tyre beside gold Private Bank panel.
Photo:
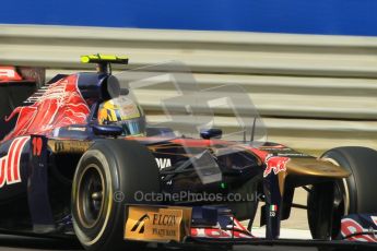
M86 250L125 250L143 243L123 240L125 204L142 203L134 198L139 191L160 192L158 167L145 146L101 140L83 154L71 205L75 235Z

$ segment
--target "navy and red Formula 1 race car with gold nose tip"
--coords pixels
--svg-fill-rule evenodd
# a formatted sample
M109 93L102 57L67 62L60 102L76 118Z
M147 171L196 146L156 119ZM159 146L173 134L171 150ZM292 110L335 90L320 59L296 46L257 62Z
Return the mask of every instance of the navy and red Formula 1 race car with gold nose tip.
M111 74L110 63L128 59L82 61L96 63L97 72L59 74L5 118L15 124L1 135L1 232L75 236L87 250L273 241L303 187L314 239L377 241L376 151L339 147L316 158L267 142L245 92L192 87L177 65L168 71L179 79L178 96L163 100L168 118L153 122L138 92L166 71ZM224 109L215 105L224 103L240 130L216 127ZM259 203L263 238L251 231Z

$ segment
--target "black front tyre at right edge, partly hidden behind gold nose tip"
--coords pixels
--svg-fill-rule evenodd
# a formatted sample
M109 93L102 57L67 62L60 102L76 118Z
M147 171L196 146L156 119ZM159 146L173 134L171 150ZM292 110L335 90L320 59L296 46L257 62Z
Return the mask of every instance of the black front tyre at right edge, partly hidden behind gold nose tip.
M308 222L313 237L335 239L344 215L377 212L374 193L377 190L377 152L367 147L346 146L330 150L321 158L351 172L349 178L332 182L331 188L328 182L313 186L308 195ZM330 199L329 189L334 190ZM323 203L332 203L332 206L325 206Z

